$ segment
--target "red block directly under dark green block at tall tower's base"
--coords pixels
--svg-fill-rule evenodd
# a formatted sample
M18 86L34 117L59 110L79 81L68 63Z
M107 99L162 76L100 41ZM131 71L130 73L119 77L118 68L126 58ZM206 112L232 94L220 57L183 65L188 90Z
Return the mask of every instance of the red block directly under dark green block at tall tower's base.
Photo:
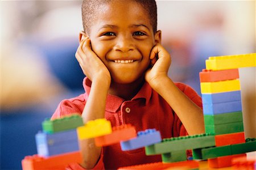
M218 158L208 159L208 167L209 168L224 168L232 166L232 159L244 156L246 154L238 154L238 155L228 155L221 156Z

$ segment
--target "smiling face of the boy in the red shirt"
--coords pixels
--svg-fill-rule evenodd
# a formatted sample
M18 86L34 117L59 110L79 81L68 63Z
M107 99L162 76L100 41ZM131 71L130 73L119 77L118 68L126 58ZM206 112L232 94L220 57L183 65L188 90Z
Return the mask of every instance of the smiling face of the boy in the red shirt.
M96 11L90 28L93 51L117 83L132 83L144 78L150 66L152 47L160 42L147 12L134 1L111 1Z

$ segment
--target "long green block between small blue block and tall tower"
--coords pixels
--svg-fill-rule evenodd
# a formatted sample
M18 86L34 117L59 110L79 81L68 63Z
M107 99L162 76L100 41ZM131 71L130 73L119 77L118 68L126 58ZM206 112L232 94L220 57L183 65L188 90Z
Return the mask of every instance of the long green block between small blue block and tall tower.
M214 135L199 134L185 137L175 137L163 139L161 143L146 146L146 155L158 155L173 151L189 150L193 148L203 148L215 146Z

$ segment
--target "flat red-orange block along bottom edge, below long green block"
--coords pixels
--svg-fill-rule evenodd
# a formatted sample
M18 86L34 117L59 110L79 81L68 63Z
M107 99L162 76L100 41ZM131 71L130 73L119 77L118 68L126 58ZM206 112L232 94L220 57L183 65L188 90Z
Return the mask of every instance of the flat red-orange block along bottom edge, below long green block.
M118 170L131 170L131 169L167 169L167 168L187 168L187 169L195 169L199 168L199 162L195 160L187 160L182 162L175 163L150 163L150 164L142 164L142 165L134 165L130 167L121 167Z

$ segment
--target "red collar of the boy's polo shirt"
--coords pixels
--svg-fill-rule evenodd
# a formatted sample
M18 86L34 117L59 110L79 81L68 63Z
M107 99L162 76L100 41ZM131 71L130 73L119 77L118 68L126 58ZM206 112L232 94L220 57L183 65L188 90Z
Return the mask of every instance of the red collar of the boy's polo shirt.
M92 85L92 82L87 77L85 77L82 84L84 86L85 99L86 99L90 94L90 87ZM131 101L135 99L144 99L145 104L148 104L150 101L151 95L152 95L152 88L147 82L145 82L141 90L139 90L139 92L133 97L133 99L131 99ZM114 113L117 112L118 108L121 107L121 104L123 103L123 101L125 101L125 99L108 94L106 99L106 111L114 112Z

